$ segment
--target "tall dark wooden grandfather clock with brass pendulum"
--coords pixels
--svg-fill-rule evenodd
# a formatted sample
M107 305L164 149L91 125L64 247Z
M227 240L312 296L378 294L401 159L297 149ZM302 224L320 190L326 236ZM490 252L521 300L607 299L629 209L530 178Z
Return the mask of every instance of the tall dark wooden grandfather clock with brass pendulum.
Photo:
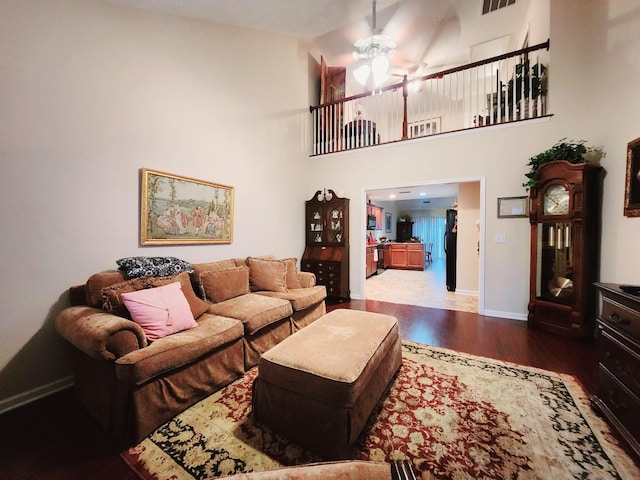
M576 338L594 333L601 171L564 160L538 169L529 192L529 327Z

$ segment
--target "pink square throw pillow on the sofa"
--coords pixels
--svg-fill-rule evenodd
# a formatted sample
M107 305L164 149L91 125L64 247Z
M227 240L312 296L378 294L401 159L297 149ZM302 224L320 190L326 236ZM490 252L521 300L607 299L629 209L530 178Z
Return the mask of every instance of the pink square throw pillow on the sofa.
M122 293L121 296L131 318L142 327L151 342L198 325L180 282Z

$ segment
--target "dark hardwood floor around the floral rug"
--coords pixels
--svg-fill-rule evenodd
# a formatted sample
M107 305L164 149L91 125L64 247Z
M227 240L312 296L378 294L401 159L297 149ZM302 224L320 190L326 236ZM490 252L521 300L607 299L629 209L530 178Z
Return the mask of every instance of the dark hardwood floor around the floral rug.
M474 313L352 300L328 305L387 313L403 339L571 374L594 393L593 341L529 330L526 322ZM98 427L68 389L0 415L0 480L134 480L121 447Z

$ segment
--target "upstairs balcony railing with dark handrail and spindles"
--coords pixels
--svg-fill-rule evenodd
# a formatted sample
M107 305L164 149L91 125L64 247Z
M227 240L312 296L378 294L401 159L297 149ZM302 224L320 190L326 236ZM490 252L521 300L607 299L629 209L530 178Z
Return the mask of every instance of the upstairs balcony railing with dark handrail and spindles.
M549 41L311 107L312 155L547 115Z

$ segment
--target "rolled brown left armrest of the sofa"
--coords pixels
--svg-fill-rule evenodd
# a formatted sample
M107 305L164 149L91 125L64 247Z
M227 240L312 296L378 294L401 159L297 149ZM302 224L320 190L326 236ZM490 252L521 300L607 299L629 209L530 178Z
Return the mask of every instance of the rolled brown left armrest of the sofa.
M99 308L67 307L58 314L55 324L60 335L87 355L99 360L115 360L116 353L110 351L109 347L112 344L123 344L121 340L113 342L114 336L119 332L134 336L137 348L147 346L147 338L140 325ZM118 355L124 353L126 352L117 352Z

